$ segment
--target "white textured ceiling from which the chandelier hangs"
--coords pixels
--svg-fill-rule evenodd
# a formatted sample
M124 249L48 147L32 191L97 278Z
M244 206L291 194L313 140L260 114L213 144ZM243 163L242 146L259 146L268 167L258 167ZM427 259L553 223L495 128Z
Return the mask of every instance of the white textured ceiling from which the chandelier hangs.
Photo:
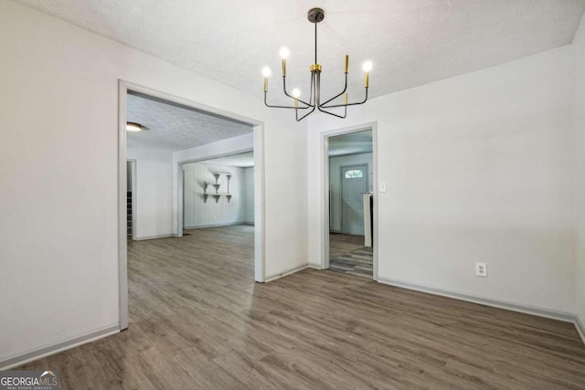
M350 100L363 93L365 59L374 63L370 96L379 96L569 44L585 10L584 0L18 1L258 98L268 65L271 100L282 45L291 49L289 85L306 94L314 6L326 12L323 93L341 87L349 54Z

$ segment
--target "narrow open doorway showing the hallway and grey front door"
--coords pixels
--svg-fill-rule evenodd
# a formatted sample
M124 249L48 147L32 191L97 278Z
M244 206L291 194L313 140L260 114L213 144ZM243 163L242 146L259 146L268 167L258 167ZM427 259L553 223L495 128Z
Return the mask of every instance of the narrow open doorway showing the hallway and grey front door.
M329 269L373 278L372 131L328 139Z

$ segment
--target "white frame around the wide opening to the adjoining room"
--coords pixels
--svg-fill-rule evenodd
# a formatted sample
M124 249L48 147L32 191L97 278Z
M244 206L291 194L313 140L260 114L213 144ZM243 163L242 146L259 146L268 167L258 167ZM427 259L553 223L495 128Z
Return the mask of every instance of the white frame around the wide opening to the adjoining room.
M128 245L126 237L126 105L129 91L148 95L155 99L171 101L197 111L226 117L253 126L254 146L254 280L266 280L265 226L265 170L264 170L264 123L239 114L219 110L206 104L180 98L176 95L153 90L139 84L118 79L118 292L120 330L128 328Z

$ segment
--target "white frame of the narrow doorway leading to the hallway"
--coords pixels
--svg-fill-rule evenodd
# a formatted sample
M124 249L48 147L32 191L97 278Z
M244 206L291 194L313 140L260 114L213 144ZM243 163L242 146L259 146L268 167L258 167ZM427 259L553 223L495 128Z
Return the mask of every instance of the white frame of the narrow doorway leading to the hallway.
M329 138L335 135L348 134L351 132L372 131L372 190L374 195L374 212L372 215L374 230L372 239L374 240L373 249L373 275L372 279L378 281L378 122L369 122L356 126L345 127L321 133L321 189L322 189L322 209L321 209L321 269L329 268Z

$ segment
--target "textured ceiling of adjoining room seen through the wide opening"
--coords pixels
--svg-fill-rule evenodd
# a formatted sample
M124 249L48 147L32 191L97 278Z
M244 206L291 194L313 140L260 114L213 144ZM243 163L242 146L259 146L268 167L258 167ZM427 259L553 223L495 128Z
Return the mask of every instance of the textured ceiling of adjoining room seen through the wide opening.
M248 124L143 96L128 95L126 115L127 121L146 127L143 132L126 132L130 148L182 151L253 131Z

